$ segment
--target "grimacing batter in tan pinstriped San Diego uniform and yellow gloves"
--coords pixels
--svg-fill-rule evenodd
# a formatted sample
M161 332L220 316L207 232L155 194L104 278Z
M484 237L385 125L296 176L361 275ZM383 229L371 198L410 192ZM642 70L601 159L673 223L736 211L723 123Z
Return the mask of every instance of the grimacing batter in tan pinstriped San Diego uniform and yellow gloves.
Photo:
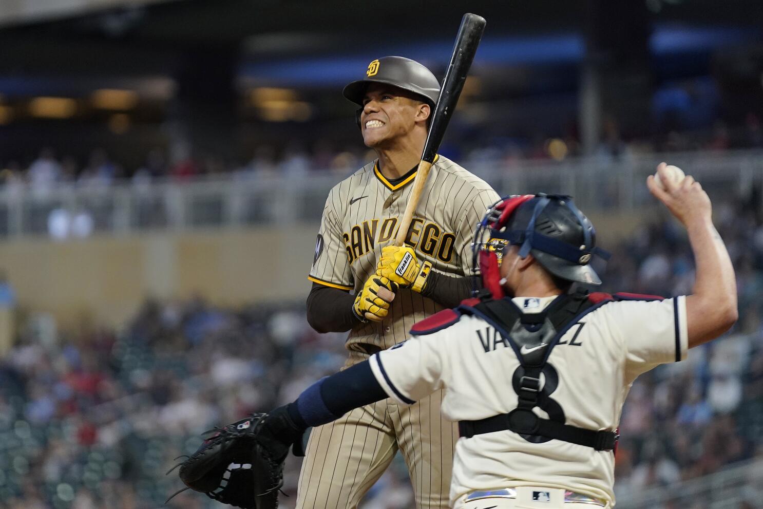
M343 94L358 105L363 142L378 158L329 193L307 298L315 330L349 331L345 368L403 342L414 323L470 295L472 230L499 198L490 185L437 156L404 246L392 246L439 82L401 56L373 60L363 72ZM410 406L376 401L312 430L297 507L356 507L398 449L417 507L447 507L458 433L440 417L442 397L434 391Z

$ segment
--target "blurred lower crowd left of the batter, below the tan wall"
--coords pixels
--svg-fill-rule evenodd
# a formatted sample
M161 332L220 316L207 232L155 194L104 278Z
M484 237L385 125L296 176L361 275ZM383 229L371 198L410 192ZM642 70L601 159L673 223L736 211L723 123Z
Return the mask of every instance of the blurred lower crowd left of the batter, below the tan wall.
M13 509L159 507L182 488L164 472L200 433L291 401L343 362L342 337L281 303L148 300L118 333L60 333L32 315L20 336L0 368L0 507ZM216 506L185 493L169 505Z

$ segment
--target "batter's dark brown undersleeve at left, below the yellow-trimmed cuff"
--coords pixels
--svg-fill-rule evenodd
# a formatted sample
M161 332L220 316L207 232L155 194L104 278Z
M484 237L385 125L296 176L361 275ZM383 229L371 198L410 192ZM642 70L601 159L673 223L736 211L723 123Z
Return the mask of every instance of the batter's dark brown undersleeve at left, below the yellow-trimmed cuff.
M353 313L355 296L313 283L307 295L307 323L317 332L346 332L360 323Z

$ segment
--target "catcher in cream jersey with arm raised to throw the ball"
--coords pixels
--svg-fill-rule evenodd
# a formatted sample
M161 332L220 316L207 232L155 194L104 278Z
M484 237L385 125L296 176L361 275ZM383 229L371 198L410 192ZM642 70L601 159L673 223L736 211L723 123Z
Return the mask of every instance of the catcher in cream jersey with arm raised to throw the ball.
M274 422L288 416L288 426L274 426L275 436L288 442L308 426L346 423L353 409L385 398L404 414L406 405L444 389L443 415L459 422L460 435L452 507L612 507L617 426L630 385L659 364L681 361L737 318L734 270L710 199L691 176L673 182L665 163L658 173L665 187L652 176L647 185L687 230L697 265L692 295L570 291L575 282L600 284L590 262L605 253L591 222L568 196L504 198L475 234L473 259L485 286L478 298L414 325L405 343L311 385L272 413ZM357 421L371 420L364 412ZM390 448L377 440L345 461ZM430 437L420 440L409 445L423 455ZM321 467L328 476L341 469L333 475L341 484L346 466Z

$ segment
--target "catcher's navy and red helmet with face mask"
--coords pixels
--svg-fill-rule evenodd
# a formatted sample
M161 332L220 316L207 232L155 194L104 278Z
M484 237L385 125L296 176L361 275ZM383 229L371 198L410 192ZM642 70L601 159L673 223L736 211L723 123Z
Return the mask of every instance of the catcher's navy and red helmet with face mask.
M609 259L596 247L596 230L565 195L523 195L501 199L478 224L473 263L482 284L494 298L503 297L498 269L499 255L507 245L520 246L519 255L532 254L538 263L559 279L600 285L591 258Z

